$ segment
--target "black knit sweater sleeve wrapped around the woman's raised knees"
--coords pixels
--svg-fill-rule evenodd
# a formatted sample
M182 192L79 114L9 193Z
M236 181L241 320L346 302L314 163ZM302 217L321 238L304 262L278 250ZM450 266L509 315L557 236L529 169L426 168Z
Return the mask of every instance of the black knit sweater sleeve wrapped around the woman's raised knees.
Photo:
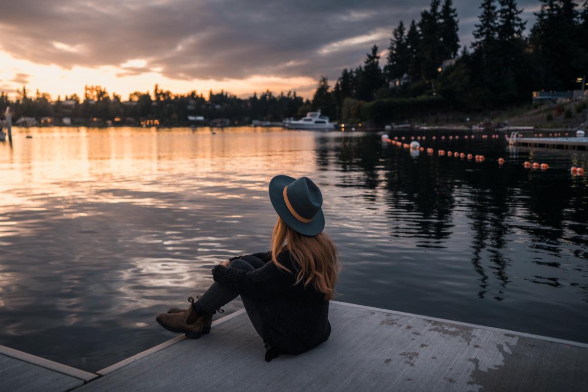
M285 271L274 263L266 263L265 266L253 271L245 271L232 267L216 265L212 269L212 276L215 282L230 287L238 294L245 294L252 297L262 297L269 293L285 292L292 288L296 281L292 273L293 266L289 261L285 262L280 257L280 264L288 268Z

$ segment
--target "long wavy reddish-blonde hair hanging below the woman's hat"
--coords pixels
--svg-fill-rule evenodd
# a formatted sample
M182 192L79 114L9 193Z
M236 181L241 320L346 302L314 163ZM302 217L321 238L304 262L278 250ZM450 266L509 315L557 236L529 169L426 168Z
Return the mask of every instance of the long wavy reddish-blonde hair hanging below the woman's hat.
M290 229L278 216L272 233L272 262L288 271L288 268L278 262L278 254L284 248L290 251L293 262L300 267L294 284L302 282L306 276L304 287L312 282L317 292L325 293L325 300L332 300L335 297L335 282L341 263L335 243L329 236L325 233L305 236Z

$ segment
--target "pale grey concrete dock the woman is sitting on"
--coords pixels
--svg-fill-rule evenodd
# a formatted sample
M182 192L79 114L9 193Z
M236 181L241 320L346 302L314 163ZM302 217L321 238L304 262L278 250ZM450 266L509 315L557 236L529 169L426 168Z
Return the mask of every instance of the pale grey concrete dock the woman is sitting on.
M339 301L329 320L328 341L270 363L239 310L201 339L178 336L96 374L45 367L54 373L43 377L54 391L588 390L588 344ZM49 390L22 376L26 360L2 360L0 390Z

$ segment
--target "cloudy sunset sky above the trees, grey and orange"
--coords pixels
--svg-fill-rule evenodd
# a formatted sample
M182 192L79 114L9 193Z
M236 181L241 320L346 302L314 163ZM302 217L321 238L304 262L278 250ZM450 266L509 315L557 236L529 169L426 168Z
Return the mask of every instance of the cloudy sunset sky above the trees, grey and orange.
M478 0L455 0L462 45ZM101 85L133 91L224 89L239 96L294 89L355 68L374 43L382 55L400 20L430 0L18 0L0 9L0 91L26 85L56 98ZM536 0L519 1L533 22Z

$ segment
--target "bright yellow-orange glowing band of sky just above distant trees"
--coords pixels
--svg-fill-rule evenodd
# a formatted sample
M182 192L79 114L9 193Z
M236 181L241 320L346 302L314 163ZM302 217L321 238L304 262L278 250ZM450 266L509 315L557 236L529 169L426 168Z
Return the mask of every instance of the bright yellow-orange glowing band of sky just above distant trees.
M54 45L64 51L80 50L59 42ZM16 96L16 89L22 89L23 86L29 92L38 89L48 92L52 99L57 99L58 96L63 99L65 95L73 93L82 97L85 85L99 85L106 88L109 94L121 95L124 100L135 91L152 92L156 83L159 88L173 93L198 91L205 96L210 90L223 90L236 96L249 96L253 92L269 90L273 93L296 91L299 96L309 98L316 87L316 80L306 76L283 78L253 75L246 79L172 79L162 75L161 68L145 69L148 68L148 61L145 59L132 59L120 66L74 66L66 69L15 58L0 51L0 63L3 65L0 69L0 91L8 93L11 98ZM133 72L136 69L141 69L141 72Z

